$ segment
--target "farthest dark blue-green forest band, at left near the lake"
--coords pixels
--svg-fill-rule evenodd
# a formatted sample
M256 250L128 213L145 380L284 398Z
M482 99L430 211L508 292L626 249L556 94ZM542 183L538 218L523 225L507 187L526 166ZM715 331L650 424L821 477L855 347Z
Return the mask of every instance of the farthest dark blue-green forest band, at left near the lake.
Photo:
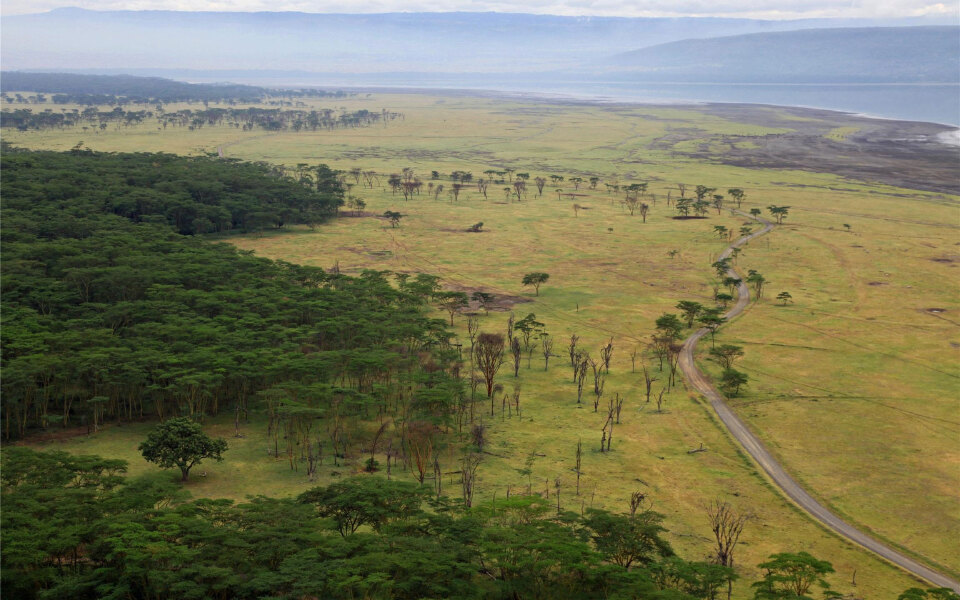
M343 98L346 92L324 90L270 90L235 83L186 83L162 77L81 75L76 73L0 73L0 92L55 94L57 104L115 105L167 102L261 102L270 96ZM13 96L16 100L16 96ZM27 101L21 95L24 102Z

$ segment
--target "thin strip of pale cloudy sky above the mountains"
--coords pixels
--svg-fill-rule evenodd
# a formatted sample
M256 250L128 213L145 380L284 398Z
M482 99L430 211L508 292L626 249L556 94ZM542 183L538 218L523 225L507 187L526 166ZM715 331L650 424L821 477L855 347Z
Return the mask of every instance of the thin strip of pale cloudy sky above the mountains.
M956 0L3 0L3 15L90 10L315 13L520 12L565 16L714 16L759 19L887 18L960 14Z

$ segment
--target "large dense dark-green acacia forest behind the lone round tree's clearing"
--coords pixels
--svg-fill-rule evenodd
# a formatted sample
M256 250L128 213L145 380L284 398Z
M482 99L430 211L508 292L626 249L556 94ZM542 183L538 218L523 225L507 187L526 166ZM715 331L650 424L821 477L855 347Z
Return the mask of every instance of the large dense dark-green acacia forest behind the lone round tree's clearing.
M293 180L212 158L5 148L0 171L7 439L245 410L268 390L289 396L278 426L336 415L341 442L344 422L386 410L443 422L456 393L442 385L449 334L422 296L386 274L328 274L184 235L327 218L342 191L325 166Z

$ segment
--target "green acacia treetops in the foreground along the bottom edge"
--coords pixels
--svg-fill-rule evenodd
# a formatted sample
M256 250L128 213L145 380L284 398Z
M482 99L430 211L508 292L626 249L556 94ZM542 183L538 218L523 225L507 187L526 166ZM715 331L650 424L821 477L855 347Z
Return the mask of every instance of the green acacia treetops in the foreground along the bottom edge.
M729 598L717 561L676 555L663 515L557 510L539 496L467 508L362 476L297 498L189 500L171 478L20 447L3 454L2 586L17 598ZM709 548L703 548L709 554ZM758 565L757 600L839 598L806 552ZM911 588L900 600L956 600Z

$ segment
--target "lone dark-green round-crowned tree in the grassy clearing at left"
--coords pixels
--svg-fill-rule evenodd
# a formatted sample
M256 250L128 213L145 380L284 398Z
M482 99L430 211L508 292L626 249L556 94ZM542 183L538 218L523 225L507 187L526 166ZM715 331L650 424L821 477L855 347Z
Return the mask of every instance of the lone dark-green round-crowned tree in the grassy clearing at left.
M138 450L147 462L163 469L178 467L182 475L180 481L186 481L190 469L200 461L207 458L222 461L227 442L211 438L189 417L176 417L157 425Z

